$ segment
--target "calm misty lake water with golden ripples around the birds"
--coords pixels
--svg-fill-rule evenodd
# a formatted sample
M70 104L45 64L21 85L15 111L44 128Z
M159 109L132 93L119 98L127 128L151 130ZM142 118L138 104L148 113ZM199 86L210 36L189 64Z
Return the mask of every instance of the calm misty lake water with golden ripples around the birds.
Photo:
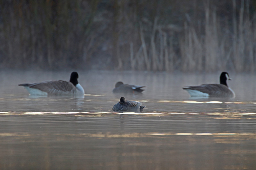
M256 169L256 85L230 72L235 98L191 98L185 85L220 73L77 71L83 99L35 97L18 84L69 80L70 71L0 71L0 169ZM145 85L115 95L117 81ZM120 97L140 113L115 113Z

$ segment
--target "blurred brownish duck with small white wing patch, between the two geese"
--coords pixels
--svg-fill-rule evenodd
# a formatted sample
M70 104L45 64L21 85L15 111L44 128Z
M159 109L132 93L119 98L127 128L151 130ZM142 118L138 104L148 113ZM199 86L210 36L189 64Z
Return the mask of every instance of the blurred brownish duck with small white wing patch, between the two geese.
M144 91L144 89L141 89L142 87L146 86L137 86L137 85L128 85L124 84L122 81L119 81L116 83L115 88L113 89L114 93L141 93Z

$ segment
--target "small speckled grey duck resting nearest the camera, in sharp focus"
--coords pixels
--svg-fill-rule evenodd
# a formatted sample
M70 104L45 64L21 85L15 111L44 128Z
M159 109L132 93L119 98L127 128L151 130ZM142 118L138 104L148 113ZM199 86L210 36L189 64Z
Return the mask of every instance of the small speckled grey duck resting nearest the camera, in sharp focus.
M125 100L124 97L120 98L120 101L116 103L112 110L113 111L131 111L141 112L145 106L142 106L141 102Z

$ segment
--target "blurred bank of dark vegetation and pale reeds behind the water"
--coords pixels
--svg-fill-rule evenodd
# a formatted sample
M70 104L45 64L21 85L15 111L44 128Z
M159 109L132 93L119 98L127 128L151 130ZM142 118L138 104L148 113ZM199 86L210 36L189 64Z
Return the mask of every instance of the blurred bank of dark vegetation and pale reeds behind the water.
M0 0L0 69L256 70L255 0Z

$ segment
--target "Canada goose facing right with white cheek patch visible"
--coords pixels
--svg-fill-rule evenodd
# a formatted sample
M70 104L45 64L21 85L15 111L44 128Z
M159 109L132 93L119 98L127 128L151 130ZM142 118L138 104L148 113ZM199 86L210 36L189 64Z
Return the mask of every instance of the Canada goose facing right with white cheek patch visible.
M235 97L235 93L227 85L227 80L231 80L227 72L220 74L220 84L203 84L198 86L183 87L190 96L210 96L210 97Z

